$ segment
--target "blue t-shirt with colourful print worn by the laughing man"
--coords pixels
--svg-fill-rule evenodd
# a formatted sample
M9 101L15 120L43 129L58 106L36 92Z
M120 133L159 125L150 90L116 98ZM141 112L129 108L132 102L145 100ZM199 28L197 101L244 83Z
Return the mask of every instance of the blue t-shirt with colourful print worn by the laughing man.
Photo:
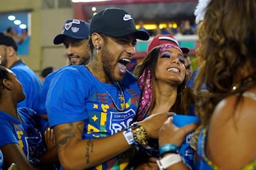
M46 98L50 126L82 120L82 139L107 137L128 128L137 112L140 90L130 72L126 72L119 85L122 88L117 83L100 82L83 65L62 69L53 77ZM117 111L114 103L124 107L121 89L125 110ZM127 169L129 159L130 155L122 154L91 169Z

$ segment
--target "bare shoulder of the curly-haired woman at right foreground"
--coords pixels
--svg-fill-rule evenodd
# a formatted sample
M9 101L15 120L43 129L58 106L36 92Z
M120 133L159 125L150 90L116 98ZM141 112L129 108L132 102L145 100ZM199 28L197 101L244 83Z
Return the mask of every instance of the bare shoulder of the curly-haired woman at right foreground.
M223 169L237 169L255 158L256 100L237 99L234 95L220 101L210 120L206 153Z

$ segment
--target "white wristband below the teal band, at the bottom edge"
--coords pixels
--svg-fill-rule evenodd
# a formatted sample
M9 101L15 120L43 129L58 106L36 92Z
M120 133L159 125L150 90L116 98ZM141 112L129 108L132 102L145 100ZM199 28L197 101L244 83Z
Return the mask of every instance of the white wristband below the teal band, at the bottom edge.
M160 170L164 170L169 166L181 162L182 158L179 154L168 154L164 158L156 160L156 164Z

